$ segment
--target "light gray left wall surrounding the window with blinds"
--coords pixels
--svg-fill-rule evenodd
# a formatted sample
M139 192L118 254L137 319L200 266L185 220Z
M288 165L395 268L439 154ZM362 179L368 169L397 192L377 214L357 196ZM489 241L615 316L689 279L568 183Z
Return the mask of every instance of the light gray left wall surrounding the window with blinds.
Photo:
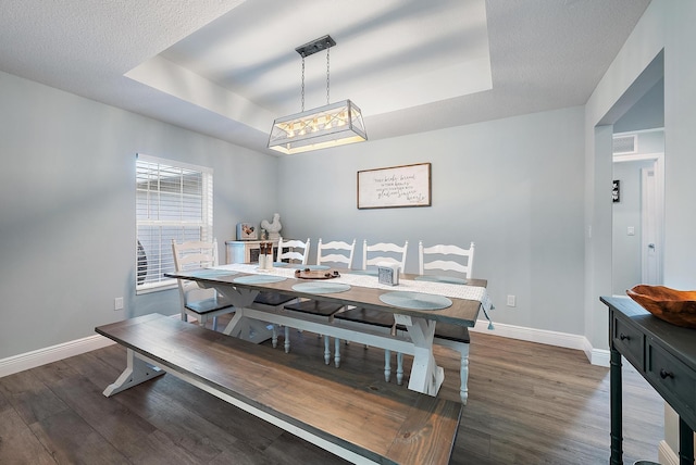
M177 311L176 290L134 293L136 152L214 169L223 253L237 222L274 211L274 184L249 176L275 176L274 158L5 73L0 101L0 359Z

